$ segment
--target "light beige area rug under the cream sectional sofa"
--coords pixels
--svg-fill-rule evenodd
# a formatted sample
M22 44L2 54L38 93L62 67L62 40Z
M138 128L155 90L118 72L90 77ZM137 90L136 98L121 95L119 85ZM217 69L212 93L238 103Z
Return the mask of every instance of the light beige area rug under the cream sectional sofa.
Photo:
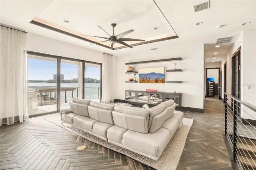
M152 168L155 168L157 170L175 170L177 168L178 163L180 161L180 156L182 155L185 146L188 132L193 123L193 119L183 118L183 125L180 125L180 127L176 130L175 134L172 136L170 142L167 144L160 158L157 161L155 161L150 158L147 158L146 156L142 156L140 154L137 154L120 146L116 146L115 144L112 144L105 140L102 140L96 136L93 136L92 134L84 132L83 130L73 127L69 124L64 123L63 125L61 125L62 121L60 119L59 113L51 115L50 117L47 117L45 120L54 123L66 130L69 130L70 132L77 134L78 136L81 136L92 142L100 144L106 148L109 148L121 154L125 154L126 156L129 156L130 158L137 160L148 166L151 166Z

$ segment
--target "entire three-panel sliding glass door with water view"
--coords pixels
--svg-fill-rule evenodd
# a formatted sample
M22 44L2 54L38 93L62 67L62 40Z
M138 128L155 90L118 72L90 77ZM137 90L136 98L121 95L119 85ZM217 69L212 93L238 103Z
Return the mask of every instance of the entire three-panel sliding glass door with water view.
M101 63L32 51L27 60L30 116L59 112L72 98L100 102Z

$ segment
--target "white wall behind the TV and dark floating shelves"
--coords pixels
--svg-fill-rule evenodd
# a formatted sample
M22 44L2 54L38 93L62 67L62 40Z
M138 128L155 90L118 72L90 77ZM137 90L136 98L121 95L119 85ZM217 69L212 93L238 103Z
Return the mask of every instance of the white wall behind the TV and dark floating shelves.
M117 61L117 99L125 99L125 90L146 91L146 89L157 89L159 92L182 93L182 107L203 109L204 106L204 46L203 44L182 44L179 47L170 47L165 50L149 51L134 55L118 57ZM184 50L186 49L186 50ZM125 74L129 65L125 63L136 61L148 61L155 59L168 59L182 57L182 61L169 61L158 63L144 63L131 65L135 71L139 68L165 67L182 69L182 72L165 72L166 81L182 81L183 83L125 83L132 75ZM138 79L138 75L136 75ZM190 104L191 103L191 104Z

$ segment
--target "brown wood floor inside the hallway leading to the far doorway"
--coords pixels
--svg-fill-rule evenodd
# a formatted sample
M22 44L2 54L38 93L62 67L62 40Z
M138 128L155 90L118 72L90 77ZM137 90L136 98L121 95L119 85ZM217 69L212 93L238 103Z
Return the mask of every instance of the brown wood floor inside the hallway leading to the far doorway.
M225 103L218 96L207 97L204 101L204 113L225 113Z

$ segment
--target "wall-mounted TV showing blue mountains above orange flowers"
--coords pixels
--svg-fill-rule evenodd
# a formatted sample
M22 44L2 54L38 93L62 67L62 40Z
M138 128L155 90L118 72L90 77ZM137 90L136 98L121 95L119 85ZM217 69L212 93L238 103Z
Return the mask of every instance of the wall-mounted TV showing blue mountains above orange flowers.
M164 67L139 69L140 83L164 83Z

